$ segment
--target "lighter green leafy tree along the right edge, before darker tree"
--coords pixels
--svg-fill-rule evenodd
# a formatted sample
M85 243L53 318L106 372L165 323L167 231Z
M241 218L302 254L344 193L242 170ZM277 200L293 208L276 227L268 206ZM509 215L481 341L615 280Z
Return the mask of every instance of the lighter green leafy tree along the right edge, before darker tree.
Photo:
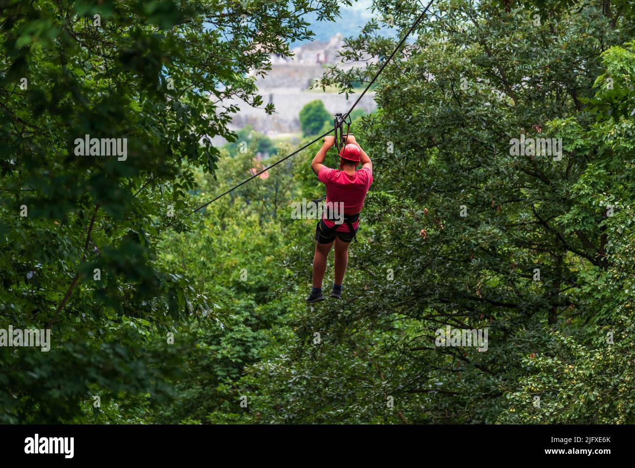
M584 229L598 212L605 237L606 262L580 269L577 282L592 296L587 316L594 326L554 330L542 354L523 360L531 372L509 392L510 411L501 422L632 423L635 403L632 382L632 308L635 287L635 236L632 184L635 148L635 43L612 46L602 53L605 72L589 100L596 121L554 121L563 137L575 141L578 154L592 157L572 186L576 201L562 217L566 234ZM603 266L606 265L606 268ZM540 405L534 404L539 401Z

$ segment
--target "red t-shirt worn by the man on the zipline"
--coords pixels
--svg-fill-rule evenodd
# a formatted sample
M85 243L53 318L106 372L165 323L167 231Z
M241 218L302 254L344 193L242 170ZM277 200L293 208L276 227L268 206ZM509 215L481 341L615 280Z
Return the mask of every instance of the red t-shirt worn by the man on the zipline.
M357 214L364 206L364 198L373 183L373 173L368 167L356 170L355 174L349 176L343 170L331 169L330 167L322 167L319 170L318 179L326 185L326 204L331 207L331 203L344 203L344 214ZM339 206L339 205L338 205ZM323 214L323 218L326 214ZM326 227L335 226L333 221L324 219ZM357 229L359 221L353 224L353 228ZM348 232L349 226L345 223L338 226L337 231Z

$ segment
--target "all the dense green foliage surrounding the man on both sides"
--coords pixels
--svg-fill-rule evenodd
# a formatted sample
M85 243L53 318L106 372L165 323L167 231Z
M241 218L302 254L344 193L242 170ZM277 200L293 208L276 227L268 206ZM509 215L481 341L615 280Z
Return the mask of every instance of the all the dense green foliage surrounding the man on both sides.
M628 1L436 2L355 115L374 182L344 299L312 306L315 221L292 203L323 195L317 145L188 216L267 163L257 137L204 142L236 141L222 100L259 105L244 73L308 34L309 3L253 2L279 15L258 30L213 3L105 4L100 29L84 3L0 18L0 327L53 331L48 353L0 348L3 422L635 422ZM387 57L382 27L422 8L373 6L347 60ZM86 133L128 135L128 160L75 156ZM437 346L446 326L487 349Z

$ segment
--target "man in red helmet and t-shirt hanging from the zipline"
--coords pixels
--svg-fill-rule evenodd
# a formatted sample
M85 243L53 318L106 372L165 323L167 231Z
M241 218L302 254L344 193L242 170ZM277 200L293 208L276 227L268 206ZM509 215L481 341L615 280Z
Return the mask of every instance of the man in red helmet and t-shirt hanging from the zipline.
M335 143L335 137L324 137L324 144L311 162L311 169L320 182L326 185L326 210L316 227L316 252L313 256L313 287L307 302L323 301L322 280L326 271L326 257L335 242L335 281L331 298L342 298L342 282L349 262L349 244L355 238L359 225L359 212L364 205L366 192L373 182L373 163L361 149L353 135L348 135L340 151L340 167L331 169L322 164L326 151ZM361 162L361 169L355 170ZM336 224L329 210L344 204L344 222ZM337 214L337 213L336 213ZM340 219L342 213L339 213Z

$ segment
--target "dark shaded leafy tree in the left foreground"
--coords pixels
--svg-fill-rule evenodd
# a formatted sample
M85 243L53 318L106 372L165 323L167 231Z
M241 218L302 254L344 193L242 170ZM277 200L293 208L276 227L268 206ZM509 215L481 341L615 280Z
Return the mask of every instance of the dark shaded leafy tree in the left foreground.
M216 308L157 244L192 225L194 176L217 169L211 137L234 137L227 99L262 104L250 72L311 38L310 12L332 19L338 3L3 2L0 328L48 327L53 343L0 349L1 422L169 394L180 353L166 335ZM121 153L83 155L85 135Z

